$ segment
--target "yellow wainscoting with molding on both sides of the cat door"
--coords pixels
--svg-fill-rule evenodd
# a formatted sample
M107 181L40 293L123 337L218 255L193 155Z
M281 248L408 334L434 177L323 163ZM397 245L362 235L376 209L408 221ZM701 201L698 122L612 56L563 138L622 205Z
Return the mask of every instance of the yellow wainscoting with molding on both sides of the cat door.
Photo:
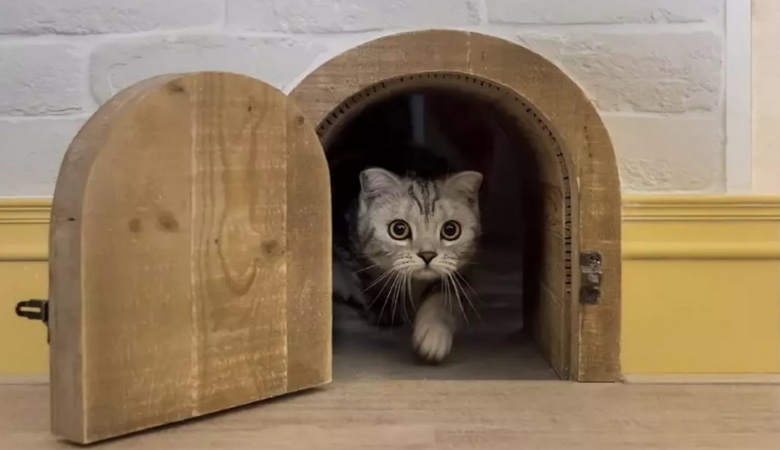
M48 370L49 206L0 199L0 374ZM780 197L625 197L622 284L627 380L780 374Z

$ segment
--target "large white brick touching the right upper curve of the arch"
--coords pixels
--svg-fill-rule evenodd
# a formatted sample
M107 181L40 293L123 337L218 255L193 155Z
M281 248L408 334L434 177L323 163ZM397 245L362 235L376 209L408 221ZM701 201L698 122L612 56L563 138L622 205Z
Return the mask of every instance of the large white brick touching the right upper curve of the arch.
M602 111L722 106L723 45L712 32L528 33L519 41L555 61Z

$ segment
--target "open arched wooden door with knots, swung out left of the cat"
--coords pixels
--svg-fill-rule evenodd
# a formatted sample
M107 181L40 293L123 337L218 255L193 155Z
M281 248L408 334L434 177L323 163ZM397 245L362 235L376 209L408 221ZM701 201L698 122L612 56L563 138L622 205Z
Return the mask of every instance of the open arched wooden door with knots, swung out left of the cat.
M229 73L132 86L68 149L51 226L53 432L90 443L328 383L312 126Z

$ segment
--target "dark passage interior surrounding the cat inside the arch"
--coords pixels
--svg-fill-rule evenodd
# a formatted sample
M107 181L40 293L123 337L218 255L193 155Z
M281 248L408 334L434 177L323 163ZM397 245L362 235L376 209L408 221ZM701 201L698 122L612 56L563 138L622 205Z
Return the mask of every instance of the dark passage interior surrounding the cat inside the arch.
M420 364L408 327L377 328L334 304L334 379L554 379L530 328L545 264L540 160L517 118L464 90L396 89L344 112L321 134L331 170L334 216L346 167L358 152L393 157L393 142L423 144L457 170L484 176L483 235L471 284L477 313L455 336L441 366ZM328 124L331 125L331 124ZM323 126L320 127L320 131ZM470 309L470 307L467 307Z

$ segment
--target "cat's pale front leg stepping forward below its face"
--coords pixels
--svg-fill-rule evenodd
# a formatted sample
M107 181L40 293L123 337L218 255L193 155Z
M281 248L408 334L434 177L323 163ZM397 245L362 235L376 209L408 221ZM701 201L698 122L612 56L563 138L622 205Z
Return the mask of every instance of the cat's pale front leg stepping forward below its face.
M429 291L417 310L412 344L418 355L430 362L441 362L452 349L452 338L458 325L441 291Z

